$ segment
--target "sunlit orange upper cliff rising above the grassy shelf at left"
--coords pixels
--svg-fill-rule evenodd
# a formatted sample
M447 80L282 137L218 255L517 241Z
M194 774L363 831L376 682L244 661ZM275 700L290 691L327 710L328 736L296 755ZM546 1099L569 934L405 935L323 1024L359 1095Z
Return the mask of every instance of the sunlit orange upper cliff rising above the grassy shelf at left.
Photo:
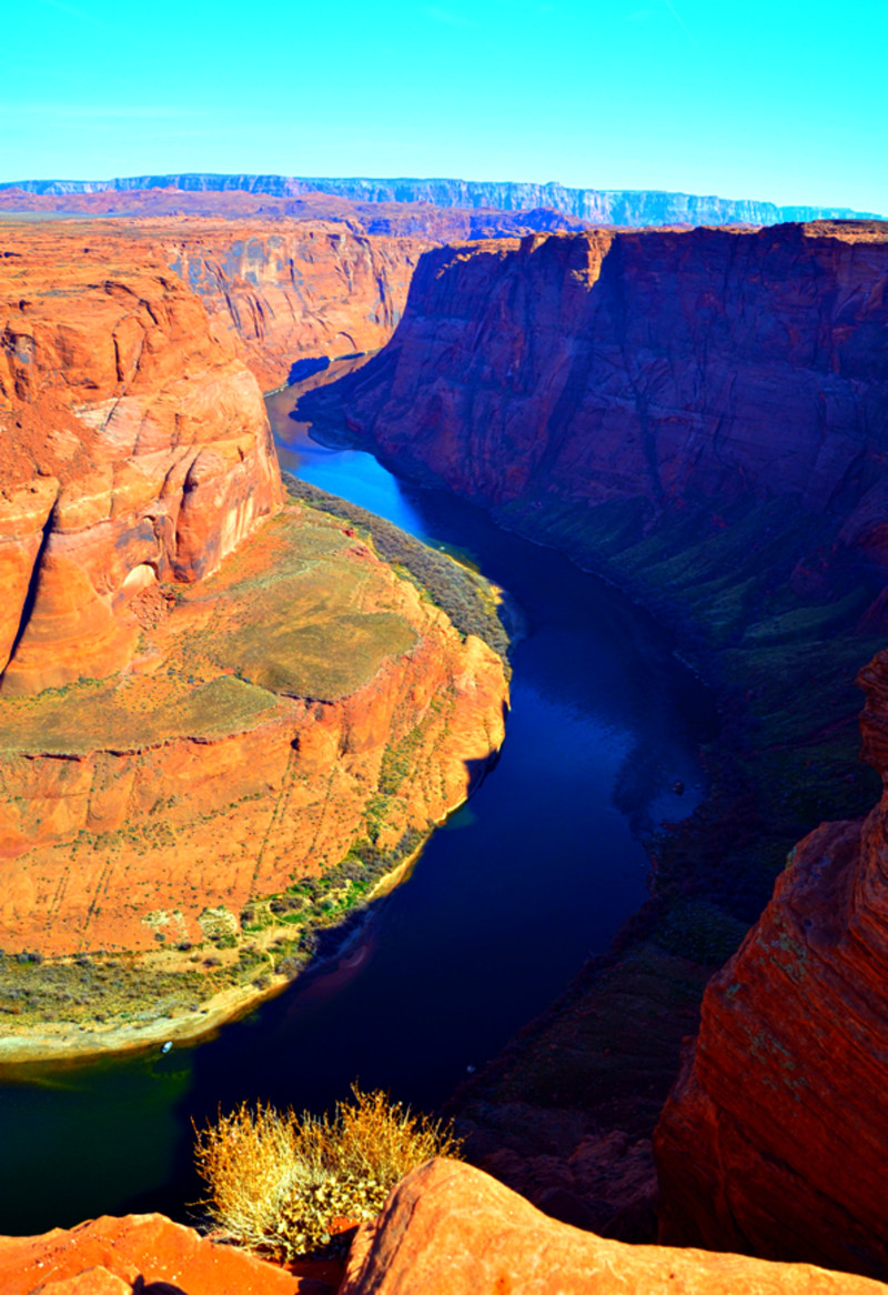
M281 501L255 378L162 260L93 234L5 238L4 695L122 668L129 601L216 570Z

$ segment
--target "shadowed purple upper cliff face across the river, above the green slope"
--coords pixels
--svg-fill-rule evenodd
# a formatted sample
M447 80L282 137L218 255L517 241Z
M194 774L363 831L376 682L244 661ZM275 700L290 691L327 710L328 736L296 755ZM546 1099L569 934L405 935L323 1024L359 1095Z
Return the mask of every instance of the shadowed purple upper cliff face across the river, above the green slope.
M887 276L880 225L440 249L304 412L497 506L783 497L884 563Z

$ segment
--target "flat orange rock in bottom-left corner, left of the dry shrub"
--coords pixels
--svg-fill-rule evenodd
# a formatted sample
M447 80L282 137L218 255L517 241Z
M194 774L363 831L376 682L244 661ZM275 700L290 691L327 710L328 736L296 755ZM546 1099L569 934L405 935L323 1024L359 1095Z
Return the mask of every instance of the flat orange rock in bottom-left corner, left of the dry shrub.
M131 1295L154 1285L181 1295L321 1295L300 1278L163 1215L104 1216L70 1232L0 1237L3 1295ZM161 1283L166 1283L161 1286Z

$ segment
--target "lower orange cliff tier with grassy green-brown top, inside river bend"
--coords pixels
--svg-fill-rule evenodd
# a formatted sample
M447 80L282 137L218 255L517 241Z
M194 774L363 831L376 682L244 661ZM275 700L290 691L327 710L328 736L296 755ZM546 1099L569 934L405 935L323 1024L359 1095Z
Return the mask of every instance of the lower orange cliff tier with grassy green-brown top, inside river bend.
M466 799L502 742L502 662L348 531L286 509L144 623L122 680L0 699L0 947L199 943L206 909L236 931Z

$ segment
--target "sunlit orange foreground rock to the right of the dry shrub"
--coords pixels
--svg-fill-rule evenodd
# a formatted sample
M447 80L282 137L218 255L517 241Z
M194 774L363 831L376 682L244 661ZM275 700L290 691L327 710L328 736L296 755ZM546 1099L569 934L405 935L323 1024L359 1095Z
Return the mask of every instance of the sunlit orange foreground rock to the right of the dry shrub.
M884 1291L861 1277L699 1250L624 1246L546 1219L452 1160L410 1173L359 1228L339 1295L806 1295Z

